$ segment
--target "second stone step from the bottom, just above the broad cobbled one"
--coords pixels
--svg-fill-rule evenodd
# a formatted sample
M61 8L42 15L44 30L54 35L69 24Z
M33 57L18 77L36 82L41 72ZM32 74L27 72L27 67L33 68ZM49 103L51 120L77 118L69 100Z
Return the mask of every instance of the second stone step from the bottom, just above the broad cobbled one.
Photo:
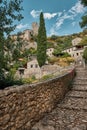
M87 99L65 97L65 99L60 104L58 104L58 107L87 111Z

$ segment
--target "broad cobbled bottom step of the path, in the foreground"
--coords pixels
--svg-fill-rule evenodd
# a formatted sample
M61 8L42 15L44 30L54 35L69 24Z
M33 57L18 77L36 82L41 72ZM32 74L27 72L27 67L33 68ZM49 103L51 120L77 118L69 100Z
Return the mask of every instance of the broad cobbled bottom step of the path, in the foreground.
M87 112L56 108L31 130L87 130Z

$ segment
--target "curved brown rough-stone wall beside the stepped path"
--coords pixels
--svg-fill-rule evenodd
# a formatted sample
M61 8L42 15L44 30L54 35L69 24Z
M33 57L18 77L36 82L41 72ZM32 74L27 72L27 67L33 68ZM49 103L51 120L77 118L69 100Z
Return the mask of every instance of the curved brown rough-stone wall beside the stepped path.
M68 91L75 70L35 85L0 90L0 130L30 130Z

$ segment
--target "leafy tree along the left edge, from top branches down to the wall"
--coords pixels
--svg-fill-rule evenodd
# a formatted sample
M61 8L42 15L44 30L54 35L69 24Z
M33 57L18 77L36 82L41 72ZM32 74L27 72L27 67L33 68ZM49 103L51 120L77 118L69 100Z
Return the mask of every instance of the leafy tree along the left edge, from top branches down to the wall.
M9 35L16 27L15 20L20 21L23 17L20 13L22 0L0 0L0 87L5 83L5 68L8 58L6 56L6 49L9 49L6 45L5 35Z

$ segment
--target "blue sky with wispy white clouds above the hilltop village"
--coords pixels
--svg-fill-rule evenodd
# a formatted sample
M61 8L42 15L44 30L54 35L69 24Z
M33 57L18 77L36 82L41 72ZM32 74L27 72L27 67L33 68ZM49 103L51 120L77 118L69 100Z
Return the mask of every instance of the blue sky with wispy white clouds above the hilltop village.
M32 22L39 24L43 12L47 36L69 35L81 32L81 17L86 11L80 0L23 0L24 16L13 33L32 29Z

